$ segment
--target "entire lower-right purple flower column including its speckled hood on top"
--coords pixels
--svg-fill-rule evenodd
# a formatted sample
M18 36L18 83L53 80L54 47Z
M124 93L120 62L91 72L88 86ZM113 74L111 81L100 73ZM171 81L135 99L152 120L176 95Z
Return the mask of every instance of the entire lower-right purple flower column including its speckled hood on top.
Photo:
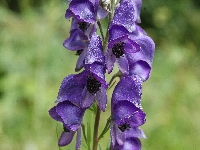
M127 147L139 150L138 138L145 138L139 128L146 121L141 107L142 81L138 76L122 76L116 85L112 99L111 148L126 150Z

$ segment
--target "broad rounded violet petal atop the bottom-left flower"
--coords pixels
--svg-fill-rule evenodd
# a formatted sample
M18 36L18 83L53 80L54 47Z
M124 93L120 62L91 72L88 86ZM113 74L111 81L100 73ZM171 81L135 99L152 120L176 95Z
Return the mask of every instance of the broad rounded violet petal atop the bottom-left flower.
M81 126L84 111L69 101L58 103L56 111L69 130L75 131Z

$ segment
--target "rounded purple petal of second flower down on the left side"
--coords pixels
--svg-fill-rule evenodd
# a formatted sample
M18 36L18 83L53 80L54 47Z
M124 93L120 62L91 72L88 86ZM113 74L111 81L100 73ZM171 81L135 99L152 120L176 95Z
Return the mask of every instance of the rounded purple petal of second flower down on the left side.
M87 36L82 31L73 30L70 37L64 41L63 46L72 51L81 50L88 45L87 40Z

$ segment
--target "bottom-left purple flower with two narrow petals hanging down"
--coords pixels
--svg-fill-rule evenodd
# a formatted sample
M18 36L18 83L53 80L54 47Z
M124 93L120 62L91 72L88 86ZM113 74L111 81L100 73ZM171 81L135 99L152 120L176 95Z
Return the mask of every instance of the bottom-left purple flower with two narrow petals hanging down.
M49 115L63 124L63 132L58 141L59 146L70 144L77 132L76 150L79 150L81 145L81 122L84 112L85 109L74 105L70 101L60 102L49 110Z

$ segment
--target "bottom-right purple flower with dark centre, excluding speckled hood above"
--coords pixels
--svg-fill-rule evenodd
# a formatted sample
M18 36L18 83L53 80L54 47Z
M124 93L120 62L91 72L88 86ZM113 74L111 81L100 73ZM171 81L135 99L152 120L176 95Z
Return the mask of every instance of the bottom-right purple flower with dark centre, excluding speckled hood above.
M112 106L111 149L140 150L139 138L146 138L139 126L146 121L146 114L132 102L121 100Z

